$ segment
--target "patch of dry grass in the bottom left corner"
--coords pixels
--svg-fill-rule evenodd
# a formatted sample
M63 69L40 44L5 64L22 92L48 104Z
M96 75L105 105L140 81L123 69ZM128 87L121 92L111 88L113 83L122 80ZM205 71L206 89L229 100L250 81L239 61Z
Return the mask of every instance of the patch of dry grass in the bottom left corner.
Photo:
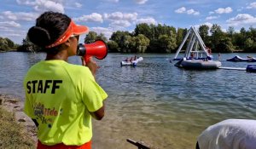
M15 113L7 112L0 106L0 148L36 148L32 139L27 136L26 128L15 122Z

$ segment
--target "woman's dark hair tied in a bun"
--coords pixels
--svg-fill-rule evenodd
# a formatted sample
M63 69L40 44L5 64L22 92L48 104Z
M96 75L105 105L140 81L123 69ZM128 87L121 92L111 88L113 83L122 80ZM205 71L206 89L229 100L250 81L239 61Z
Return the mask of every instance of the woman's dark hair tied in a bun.
M43 48L45 52L56 52L59 46L51 49L45 49L45 46L55 43L55 41L67 30L70 22L71 19L66 14L47 11L38 17L36 26L32 26L28 30L27 37L32 43Z

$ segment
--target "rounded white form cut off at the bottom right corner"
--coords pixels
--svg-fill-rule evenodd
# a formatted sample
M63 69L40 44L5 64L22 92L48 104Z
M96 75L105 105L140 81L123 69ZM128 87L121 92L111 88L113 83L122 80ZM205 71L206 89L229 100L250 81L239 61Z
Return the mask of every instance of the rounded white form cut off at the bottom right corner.
M205 129L197 138L196 149L254 149L256 120L227 119Z

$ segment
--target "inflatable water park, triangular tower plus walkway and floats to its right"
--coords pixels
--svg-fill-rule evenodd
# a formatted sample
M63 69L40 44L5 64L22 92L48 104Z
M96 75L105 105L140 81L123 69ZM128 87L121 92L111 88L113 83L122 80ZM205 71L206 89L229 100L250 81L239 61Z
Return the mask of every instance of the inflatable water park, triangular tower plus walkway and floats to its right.
M183 46L186 44L186 49ZM182 50L183 49L183 50ZM180 56L180 53L183 53ZM224 67L220 61L213 60L212 50L207 48L199 33L194 26L191 26L186 36L183 38L183 42L180 44L174 58L170 61L177 60L174 66L184 69L192 70L207 70L207 69L226 69L226 70L238 70L246 72L256 72L256 65L247 65L246 68L238 67ZM241 58L236 55L227 61L233 62L256 62L256 59L252 56L247 58Z

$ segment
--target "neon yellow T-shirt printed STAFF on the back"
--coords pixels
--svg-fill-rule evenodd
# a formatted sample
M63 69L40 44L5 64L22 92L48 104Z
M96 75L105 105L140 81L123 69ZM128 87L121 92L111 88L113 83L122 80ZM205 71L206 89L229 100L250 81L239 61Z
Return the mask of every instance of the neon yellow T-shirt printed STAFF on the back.
M108 95L86 66L64 60L42 60L24 79L24 112L36 119L38 140L44 145L83 145L91 140L90 112Z

